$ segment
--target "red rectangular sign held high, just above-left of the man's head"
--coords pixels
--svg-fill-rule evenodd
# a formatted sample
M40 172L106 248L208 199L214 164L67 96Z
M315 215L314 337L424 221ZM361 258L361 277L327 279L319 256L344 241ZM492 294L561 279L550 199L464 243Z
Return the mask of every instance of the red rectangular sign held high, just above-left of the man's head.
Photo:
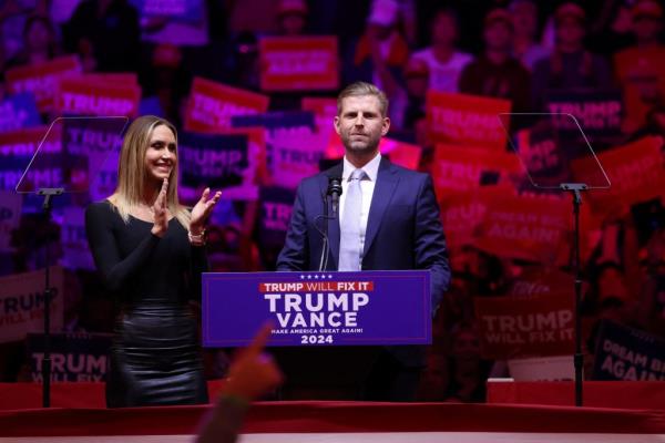
M263 91L339 87L337 37L266 37L258 43Z

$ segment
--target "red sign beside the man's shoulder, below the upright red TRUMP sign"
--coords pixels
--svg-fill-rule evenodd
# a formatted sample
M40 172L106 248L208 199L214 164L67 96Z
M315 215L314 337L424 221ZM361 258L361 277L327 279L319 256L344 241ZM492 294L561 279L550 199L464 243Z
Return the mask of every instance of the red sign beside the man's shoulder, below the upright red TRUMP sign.
M498 184L522 173L520 159L508 152L439 144L434 148L432 177L440 198L450 193L479 187L483 177L497 176ZM497 183L492 183L497 184Z

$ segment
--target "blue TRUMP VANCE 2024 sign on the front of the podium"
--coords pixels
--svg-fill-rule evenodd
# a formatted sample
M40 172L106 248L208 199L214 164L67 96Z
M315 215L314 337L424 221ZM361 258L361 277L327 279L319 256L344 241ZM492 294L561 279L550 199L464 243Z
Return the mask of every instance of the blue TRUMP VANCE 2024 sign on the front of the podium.
M203 346L431 343L430 272L206 272Z

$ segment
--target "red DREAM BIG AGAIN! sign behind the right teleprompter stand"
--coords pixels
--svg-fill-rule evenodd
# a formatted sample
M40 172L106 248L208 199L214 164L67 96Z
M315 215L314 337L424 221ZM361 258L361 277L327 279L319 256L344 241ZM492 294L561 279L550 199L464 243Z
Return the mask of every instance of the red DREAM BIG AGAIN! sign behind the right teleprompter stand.
M553 196L505 196L489 202L477 246L500 257L553 264L567 250L571 203Z

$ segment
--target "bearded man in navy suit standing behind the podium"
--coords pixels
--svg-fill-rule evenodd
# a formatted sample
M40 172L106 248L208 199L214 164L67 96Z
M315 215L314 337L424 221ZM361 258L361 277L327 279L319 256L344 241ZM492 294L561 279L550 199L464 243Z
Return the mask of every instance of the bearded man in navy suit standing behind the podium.
M386 95L372 84L352 83L339 94L335 130L345 146L344 161L298 187L277 270L318 269L323 196L330 177L341 177L339 214L328 220L327 269L429 269L433 315L450 281L439 205L428 174L380 155L379 142L390 127L387 112ZM423 347L382 348L364 398L413 400L424 363Z

